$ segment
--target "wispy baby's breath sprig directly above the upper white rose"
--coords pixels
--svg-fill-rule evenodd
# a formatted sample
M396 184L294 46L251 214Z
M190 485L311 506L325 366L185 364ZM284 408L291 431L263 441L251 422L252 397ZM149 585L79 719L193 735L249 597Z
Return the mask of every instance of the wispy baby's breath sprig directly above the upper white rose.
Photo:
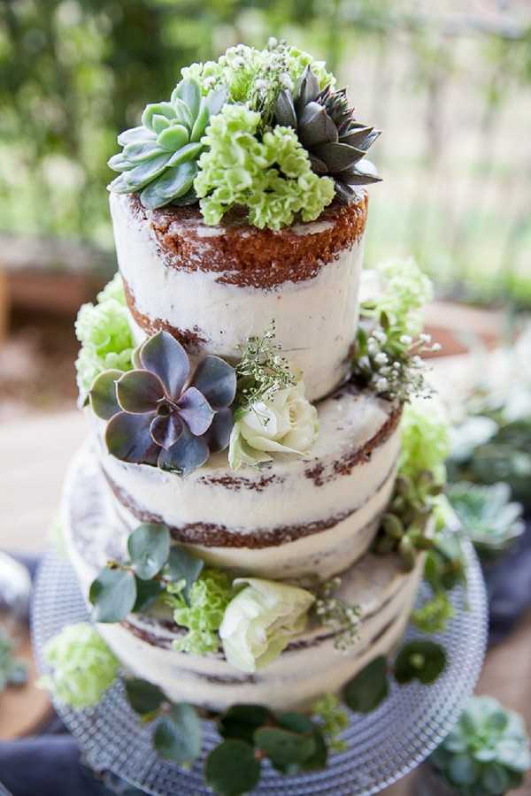
M248 411L278 390L296 384L289 362L281 354L281 346L274 342L275 334L272 320L261 337L250 337L242 346L242 359L236 365L236 411Z

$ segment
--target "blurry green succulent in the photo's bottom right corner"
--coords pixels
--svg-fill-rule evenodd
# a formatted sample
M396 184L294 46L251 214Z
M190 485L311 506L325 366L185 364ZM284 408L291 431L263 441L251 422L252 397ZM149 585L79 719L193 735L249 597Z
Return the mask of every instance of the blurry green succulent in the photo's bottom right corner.
M472 697L429 762L463 796L502 796L531 767L523 720L492 697Z

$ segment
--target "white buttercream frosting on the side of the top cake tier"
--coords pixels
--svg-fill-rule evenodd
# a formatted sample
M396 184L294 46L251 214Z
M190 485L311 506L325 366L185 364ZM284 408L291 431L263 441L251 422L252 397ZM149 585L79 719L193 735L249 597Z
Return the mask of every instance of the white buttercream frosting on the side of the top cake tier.
M303 372L310 401L341 382L358 324L363 237L312 279L240 287L224 283L224 272L189 272L168 264L149 221L131 213L127 195L111 194L111 210L119 270L143 316L193 331L206 340L205 352L226 357L239 356L242 343L263 334L274 320L276 340ZM322 232L330 223L302 225L298 233ZM199 237L220 233L200 227ZM138 326L136 331L142 336Z

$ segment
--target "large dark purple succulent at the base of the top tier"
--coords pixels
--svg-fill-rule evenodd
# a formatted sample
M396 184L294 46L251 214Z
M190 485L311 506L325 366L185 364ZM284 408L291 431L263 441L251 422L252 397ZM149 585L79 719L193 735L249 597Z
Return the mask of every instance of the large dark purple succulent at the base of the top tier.
M236 392L231 365L205 356L190 379L189 357L167 332L145 341L134 364L126 373L104 371L90 390L96 415L109 421L109 453L186 474L227 448Z

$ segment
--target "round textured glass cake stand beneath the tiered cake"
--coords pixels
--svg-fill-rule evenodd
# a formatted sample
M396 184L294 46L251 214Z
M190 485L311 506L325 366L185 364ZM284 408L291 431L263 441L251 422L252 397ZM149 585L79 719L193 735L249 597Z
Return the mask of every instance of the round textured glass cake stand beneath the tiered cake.
M372 714L351 714L343 735L348 751L333 754L326 770L281 777L265 765L257 796L368 796L404 777L439 745L473 692L486 646L487 601L481 569L472 547L466 556L467 588L454 589L454 617L448 629L435 637L448 654L443 676L431 686L395 685ZM42 670L46 669L42 662L46 641L66 624L88 619L72 567L50 552L42 562L33 603L34 647ZM416 635L412 628L407 631L410 639ZM323 686L326 690L325 672ZM111 770L154 796L212 793L204 785L203 760L184 770L154 754L152 729L142 727L128 707L121 681L112 685L96 708L81 712L60 704L56 708L95 769ZM214 725L205 722L204 754L217 743Z

